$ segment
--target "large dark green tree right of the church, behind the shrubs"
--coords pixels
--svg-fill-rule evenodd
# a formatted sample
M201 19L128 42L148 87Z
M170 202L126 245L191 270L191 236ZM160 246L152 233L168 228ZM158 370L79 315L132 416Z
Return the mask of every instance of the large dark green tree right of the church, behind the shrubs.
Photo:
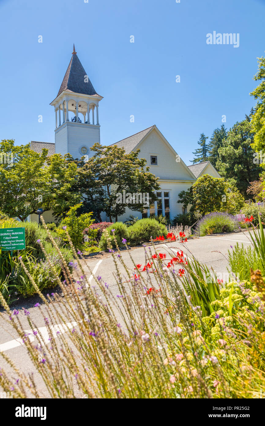
M246 196L249 182L259 177L259 165L254 160L254 135L251 131L250 118L234 124L229 130L223 146L219 148L217 170L231 185Z

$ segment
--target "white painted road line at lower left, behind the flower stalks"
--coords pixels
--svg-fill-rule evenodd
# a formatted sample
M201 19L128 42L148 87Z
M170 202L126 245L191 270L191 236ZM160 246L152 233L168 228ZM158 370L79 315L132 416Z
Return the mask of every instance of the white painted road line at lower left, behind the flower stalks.
M67 322L66 324L55 324L51 325L51 332L54 337L56 337L59 333L65 333L67 329L73 328L77 325L77 322ZM25 335L28 337L28 339L33 342L35 337L33 334L33 331L37 331L39 334L40 340L44 341L44 343L47 343L50 335L47 327L39 327L34 328L33 330L24 330ZM58 333L59 332L59 333ZM57 334L58 333L58 334ZM16 348L17 346L24 345L23 339L19 337L18 339L10 340L6 343L0 344L0 352L8 351L9 349Z

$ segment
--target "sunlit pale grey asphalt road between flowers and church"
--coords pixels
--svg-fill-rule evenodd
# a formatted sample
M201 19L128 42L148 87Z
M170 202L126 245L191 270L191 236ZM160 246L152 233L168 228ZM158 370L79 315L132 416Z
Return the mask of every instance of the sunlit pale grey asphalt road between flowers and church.
M228 259L227 254L228 250L231 250L236 243L243 243L244 246L251 244L250 240L247 237L247 233L229 233L222 235L206 236L198 239L190 239L184 245L178 242L172 242L167 244L156 245L156 250L161 253L167 254L167 259L174 256L174 252L177 250L183 250L185 256L191 258L194 256L199 260L200 263L203 263L208 266L208 268L213 268L217 273L217 277L220 279L223 278L224 273L228 273ZM134 265L130 259L130 255L136 264L146 264L146 253L154 253L154 248L135 248L133 250L123 251L122 256L125 261L125 264L129 269L131 269L131 275L135 273ZM117 256L117 254L115 254ZM119 262L119 259L117 259ZM88 258L86 265L84 265L85 272L89 277L89 282L91 285L96 286L96 282L91 275L90 271L93 271L94 276L101 276L102 279L108 284L111 292L117 291L116 283L116 271L113 259L111 255L107 255L100 259L99 256ZM90 269L90 271L89 271ZM126 272L123 266L119 263L120 273L124 275L124 280L126 281ZM78 286L78 285L77 285ZM49 291L52 292L51 290ZM38 296L37 296L38 297ZM20 312L20 319L22 324L25 324L25 330L28 329L28 322L26 316L23 313L21 307L23 306L30 312L30 317L34 321L37 327L44 327L41 329L42 333L46 333L45 323L43 317L40 316L39 308L35 308L34 304L36 303L37 297L23 299L23 301L18 301L17 304L12 306L12 309L16 308ZM39 300L40 301L40 300ZM19 367L21 371L25 374L28 374L31 371L34 371L34 367L31 361L28 358L26 353L26 348L23 346L23 343L18 339L15 332L10 328L7 322L4 320L6 313L2 310L0 312L0 351L3 351L9 358ZM71 319L68 319L70 322ZM71 324L69 325L71 328ZM6 362L0 357L0 367L5 368L6 371L10 371L9 366L6 365ZM16 380L16 377L14 377ZM38 389L40 389L43 397L47 396L45 386L40 377L35 377L36 384Z

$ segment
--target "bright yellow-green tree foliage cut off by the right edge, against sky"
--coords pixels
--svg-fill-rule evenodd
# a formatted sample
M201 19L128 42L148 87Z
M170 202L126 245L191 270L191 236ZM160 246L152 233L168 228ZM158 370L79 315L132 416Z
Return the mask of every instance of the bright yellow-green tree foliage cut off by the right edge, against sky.
M252 147L254 151L265 150L265 58L258 58L258 72L253 78L260 81L251 96L257 100L254 114L251 116L251 129L254 133Z

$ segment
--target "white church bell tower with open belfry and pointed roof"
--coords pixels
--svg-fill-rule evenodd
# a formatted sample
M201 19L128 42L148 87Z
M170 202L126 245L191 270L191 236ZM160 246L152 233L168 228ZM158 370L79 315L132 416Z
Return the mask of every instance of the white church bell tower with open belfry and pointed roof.
M93 155L89 148L100 143L101 99L74 49L58 95L50 104L55 110L55 153L70 153L74 158Z

